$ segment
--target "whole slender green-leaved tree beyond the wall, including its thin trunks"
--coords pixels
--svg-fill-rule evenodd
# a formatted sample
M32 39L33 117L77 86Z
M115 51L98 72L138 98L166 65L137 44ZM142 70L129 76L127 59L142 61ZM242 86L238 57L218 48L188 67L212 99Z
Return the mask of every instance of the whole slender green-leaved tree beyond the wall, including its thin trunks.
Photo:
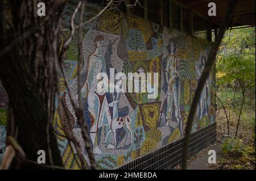
M246 96L255 99L255 94L251 94L255 90L255 27L225 33L216 61L216 81L219 100L226 114L228 135L232 111L238 116L237 136Z

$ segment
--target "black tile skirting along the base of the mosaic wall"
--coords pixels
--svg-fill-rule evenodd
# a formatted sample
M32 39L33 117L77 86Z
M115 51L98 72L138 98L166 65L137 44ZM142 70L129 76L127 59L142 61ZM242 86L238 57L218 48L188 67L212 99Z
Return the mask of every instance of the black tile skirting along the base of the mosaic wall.
M189 157L199 153L210 144L216 141L216 123L201 128L191 134L189 143ZM119 167L119 170L165 170L174 169L181 163L183 154L184 137L172 142L169 145L152 151L147 155L135 159Z

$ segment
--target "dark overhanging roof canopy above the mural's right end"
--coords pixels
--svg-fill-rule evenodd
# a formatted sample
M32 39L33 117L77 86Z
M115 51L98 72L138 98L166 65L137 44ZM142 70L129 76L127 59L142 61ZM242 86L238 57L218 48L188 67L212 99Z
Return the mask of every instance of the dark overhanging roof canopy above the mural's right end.
M212 21L212 28L220 27L226 10L228 9L229 0L180 0L185 5L200 12ZM216 16L208 16L208 3L216 3ZM255 25L255 0L237 0L237 5L233 11L232 23L229 27L236 26L253 26Z

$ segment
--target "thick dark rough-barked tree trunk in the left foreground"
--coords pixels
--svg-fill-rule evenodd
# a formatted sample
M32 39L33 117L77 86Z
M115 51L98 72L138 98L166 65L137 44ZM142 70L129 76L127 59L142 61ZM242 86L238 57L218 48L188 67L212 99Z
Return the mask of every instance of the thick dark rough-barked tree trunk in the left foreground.
M0 57L0 79L9 95L12 118L7 123L7 135L16 137L27 159L37 162L38 150L44 150L47 165L63 166L51 121L57 81L54 62L58 56L60 18L65 3L45 1L46 16L42 17L36 14L37 3L35 0L11 1L9 15L0 2L0 50L14 43L14 47ZM28 32L32 32L30 36ZM45 167L14 160L11 168Z

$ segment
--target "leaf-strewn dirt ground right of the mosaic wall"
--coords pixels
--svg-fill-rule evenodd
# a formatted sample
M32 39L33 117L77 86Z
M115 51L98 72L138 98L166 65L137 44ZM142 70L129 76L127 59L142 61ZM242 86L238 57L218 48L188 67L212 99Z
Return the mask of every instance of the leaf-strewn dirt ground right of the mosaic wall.
M248 110L245 112L247 118L255 119L255 112ZM251 116L251 117L250 117ZM248 119L248 120L249 120ZM230 169L234 164L237 164L236 156L233 157L226 157L225 154L222 153L222 142L226 137L227 134L227 123L224 110L217 110L216 112L216 123L217 123L217 141L214 144L208 146L204 150L200 151L197 155L193 156L191 159L188 160L188 169L189 170L217 170L217 169ZM234 137L236 132L236 117L231 117L230 119L230 137ZM246 117L243 117L241 120L240 127L238 129L238 138L243 141L244 145L253 144L253 135L255 131L255 124L253 121L247 121ZM208 163L208 151L215 150L216 151L216 164ZM224 161L222 161L224 160ZM181 166L177 166L175 169L180 169ZM247 166L248 169L255 169L255 155L254 155L254 164L249 164Z

